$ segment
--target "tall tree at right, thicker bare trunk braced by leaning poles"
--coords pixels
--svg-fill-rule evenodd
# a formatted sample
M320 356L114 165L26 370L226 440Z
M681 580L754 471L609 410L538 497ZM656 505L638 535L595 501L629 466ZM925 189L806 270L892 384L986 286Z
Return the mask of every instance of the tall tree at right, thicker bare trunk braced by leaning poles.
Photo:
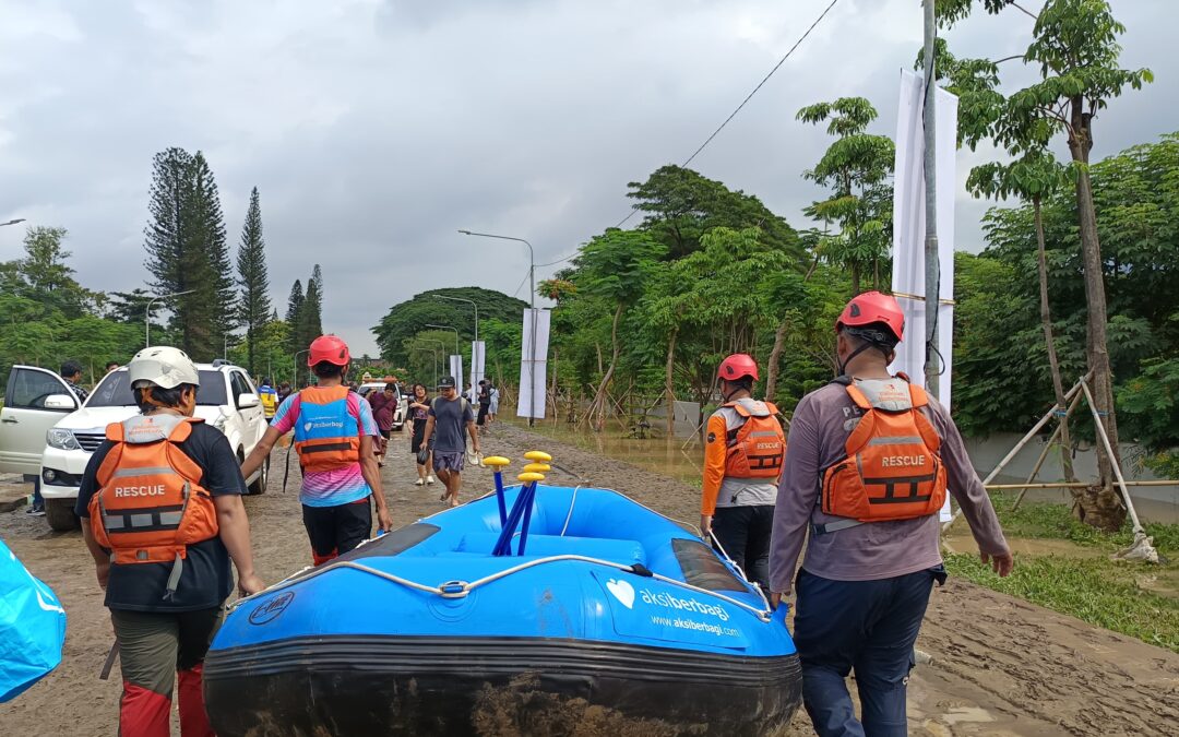
M942 6L942 18L946 22L954 22L968 15L973 4L949 0ZM1014 0L987 0L984 7L992 14L1014 7L1033 15ZM1153 78L1150 70L1119 66L1121 46L1118 37L1125 32L1125 26L1114 19L1105 0L1048 0L1033 17L1032 41L1023 60L1039 67L1039 80L1009 96L1005 116L996 121L996 137L1001 143L1019 139L1019 132L1008 132L1005 120L1014 121L1016 131L1023 130L1029 120L1041 121L1052 131L1063 133L1075 164L1074 198L1088 303L1086 354L1096 409L1101 413L1102 426L1114 449L1114 458L1109 459L1104 448L1098 447L1102 488L1100 499L1094 500L1098 504L1091 509L1089 521L1099 527L1117 528L1125 511L1111 502L1114 495L1111 461L1119 462L1118 421L1108 348L1105 259L1098 231L1089 153L1093 149L1093 121L1100 111L1127 87L1138 90Z

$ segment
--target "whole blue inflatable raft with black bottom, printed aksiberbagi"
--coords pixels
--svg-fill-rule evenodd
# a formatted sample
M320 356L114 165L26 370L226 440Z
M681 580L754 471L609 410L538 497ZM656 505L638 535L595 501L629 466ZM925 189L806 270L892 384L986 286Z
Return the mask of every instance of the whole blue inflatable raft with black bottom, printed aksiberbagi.
M239 601L205 660L217 733L785 729L802 684L785 606L618 492L532 486Z

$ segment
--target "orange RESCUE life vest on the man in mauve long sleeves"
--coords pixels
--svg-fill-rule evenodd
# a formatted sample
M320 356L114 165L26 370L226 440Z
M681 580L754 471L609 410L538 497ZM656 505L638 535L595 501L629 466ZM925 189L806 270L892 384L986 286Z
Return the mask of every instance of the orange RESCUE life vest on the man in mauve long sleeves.
M851 400L865 412L848 436L847 458L823 474L819 504L824 514L878 522L941 509L946 501L942 439L921 412L929 404L926 390L905 386L910 407L890 410L874 406L854 383L847 384Z

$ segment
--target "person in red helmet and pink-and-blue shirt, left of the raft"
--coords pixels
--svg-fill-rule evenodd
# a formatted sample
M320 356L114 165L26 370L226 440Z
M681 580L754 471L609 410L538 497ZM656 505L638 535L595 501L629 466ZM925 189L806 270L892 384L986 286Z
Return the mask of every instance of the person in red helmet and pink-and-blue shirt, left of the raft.
M303 527L315 565L368 539L373 532L373 502L378 528L393 528L373 455L380 430L368 402L348 389L350 362L348 346L335 335L311 341L307 364L316 376L316 386L292 394L278 406L262 440L242 462L242 474L249 478L270 455L275 442L295 430L295 449L303 468Z

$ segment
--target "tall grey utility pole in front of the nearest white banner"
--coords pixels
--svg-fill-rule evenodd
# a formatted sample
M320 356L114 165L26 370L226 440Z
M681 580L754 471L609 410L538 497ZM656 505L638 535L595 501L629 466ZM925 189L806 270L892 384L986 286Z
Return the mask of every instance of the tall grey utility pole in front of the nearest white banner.
M937 114L934 83L934 39L937 37L934 0L924 0L926 15L926 389L941 396L941 366L937 361L937 311L941 307L941 261L937 254Z

